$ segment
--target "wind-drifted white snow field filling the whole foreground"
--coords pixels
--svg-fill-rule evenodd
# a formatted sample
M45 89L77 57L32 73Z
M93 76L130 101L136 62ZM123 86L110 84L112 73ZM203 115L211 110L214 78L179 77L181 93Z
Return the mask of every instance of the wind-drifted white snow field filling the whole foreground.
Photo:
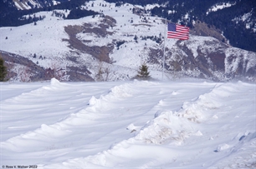
M1 167L256 167L255 84L0 84Z

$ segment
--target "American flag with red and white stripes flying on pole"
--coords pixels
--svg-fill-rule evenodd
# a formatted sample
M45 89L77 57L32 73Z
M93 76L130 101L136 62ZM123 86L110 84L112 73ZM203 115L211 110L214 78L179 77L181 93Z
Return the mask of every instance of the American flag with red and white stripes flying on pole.
M167 38L177 38L180 40L187 40L188 33L189 33L189 27L168 22Z

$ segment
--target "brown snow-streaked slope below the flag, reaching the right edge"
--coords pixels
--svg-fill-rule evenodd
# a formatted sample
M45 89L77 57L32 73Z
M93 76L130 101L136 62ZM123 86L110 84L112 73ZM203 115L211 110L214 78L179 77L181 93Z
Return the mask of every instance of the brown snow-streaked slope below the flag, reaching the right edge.
M163 49L149 49L149 61L162 65ZM196 57L195 53L197 53ZM252 57L253 52L239 52L239 49L230 52L228 45L219 41L204 41L202 46L198 46L197 49L189 47L189 41L177 41L171 49L166 47L164 67L166 71L172 73L177 72L181 75L214 81L228 79L253 81L256 67L251 66L253 60L250 58Z

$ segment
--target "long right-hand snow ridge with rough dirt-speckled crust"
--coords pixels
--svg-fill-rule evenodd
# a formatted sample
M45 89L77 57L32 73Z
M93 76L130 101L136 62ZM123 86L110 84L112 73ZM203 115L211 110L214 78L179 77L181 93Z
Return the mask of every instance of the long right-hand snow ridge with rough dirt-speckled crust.
M195 130L197 124L209 121L212 119L212 113L207 113L211 112L211 110L223 107L222 102L218 101L219 98L221 98L221 100L227 99L233 92L237 91L238 87L233 84L217 85L213 87L210 92L200 95L197 99L193 99L191 102L184 102L181 110L178 112L156 112L155 118L152 119L151 122L147 122L135 137L115 144L115 146L110 147L109 150L100 152L95 156L76 160L78 162L83 161L84 166L96 165L97 167L115 167L115 163L113 164L111 161L113 157L120 157L119 162L125 163L124 158L129 157L129 155L125 156L124 154L129 154L129 152L135 150L137 145L141 143L170 145L172 142L175 142L175 145L181 146L188 137L202 137L202 132ZM240 140L243 139L243 137L239 138ZM254 134L250 138L255 139ZM231 145L223 143L218 145L215 152L227 151L230 148L232 148ZM154 148L151 150L153 149ZM167 151L170 150L163 150L163 152ZM142 155L141 152L138 153ZM157 152L155 153L157 154ZM142 156L145 157L146 154ZM162 156L161 158L161 160L165 159ZM70 160L69 162L72 163L74 160ZM149 162L141 168L154 166L156 163L157 162Z

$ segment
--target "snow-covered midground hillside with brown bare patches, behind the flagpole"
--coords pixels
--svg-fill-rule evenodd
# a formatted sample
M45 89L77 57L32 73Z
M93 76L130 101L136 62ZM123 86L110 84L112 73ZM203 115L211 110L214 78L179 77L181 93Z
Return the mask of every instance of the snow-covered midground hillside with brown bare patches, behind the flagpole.
M81 8L104 15L76 20L63 20L53 12L38 12L36 16L45 18L36 25L1 27L6 39L1 41L0 49L27 57L44 68L58 62L71 80L84 80L76 72L99 80L97 73L101 68L100 79L113 81L135 77L143 62L150 67L151 77L161 79L165 45L165 79L182 76L221 81L234 77L255 79L254 52L192 34L188 41L167 39L164 43L164 20L151 17L150 13L138 14L143 9L140 6L133 13L133 7L128 3L115 7L115 3L101 0L86 2Z

